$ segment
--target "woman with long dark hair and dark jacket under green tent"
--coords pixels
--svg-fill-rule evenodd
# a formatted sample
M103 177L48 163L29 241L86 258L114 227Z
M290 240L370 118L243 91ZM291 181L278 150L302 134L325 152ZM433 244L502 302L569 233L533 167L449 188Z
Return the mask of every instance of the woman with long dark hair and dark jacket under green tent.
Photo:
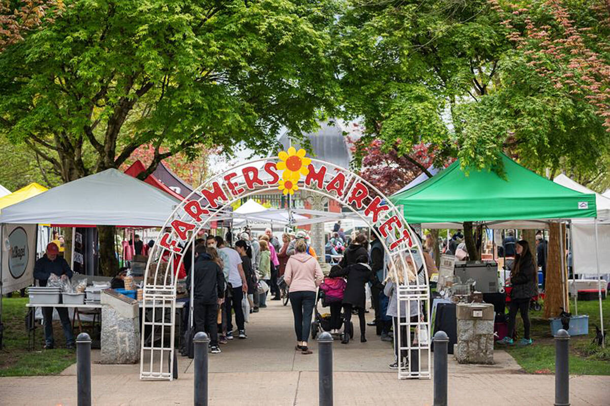
M529 302L533 296L537 294L537 275L534 258L529 249L529 244L525 240L517 242L515 249L515 261L511 270L511 304L508 312L508 335L499 341L501 344L514 344L512 335L515 330L515 318L517 318L517 310L521 313L523 319L523 338L519 344L529 345L532 343L529 338Z

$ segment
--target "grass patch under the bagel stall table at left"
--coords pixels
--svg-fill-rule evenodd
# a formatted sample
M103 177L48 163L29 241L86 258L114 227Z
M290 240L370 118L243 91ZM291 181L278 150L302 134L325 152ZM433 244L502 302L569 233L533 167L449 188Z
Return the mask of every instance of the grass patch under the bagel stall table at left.
M76 362L76 351L62 348L65 339L59 322L54 322L56 349L42 349L45 333L38 324L37 351L27 351L27 301L27 297L2 297L4 348L0 349L0 376L55 375Z

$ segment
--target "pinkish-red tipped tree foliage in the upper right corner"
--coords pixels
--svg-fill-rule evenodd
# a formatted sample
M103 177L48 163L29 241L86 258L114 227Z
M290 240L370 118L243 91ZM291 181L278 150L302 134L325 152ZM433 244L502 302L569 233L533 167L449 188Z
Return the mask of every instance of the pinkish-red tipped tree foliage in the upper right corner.
M586 15L565 0L531 4L490 0L510 29L509 40L565 96L589 102L610 131L610 2L592 0Z

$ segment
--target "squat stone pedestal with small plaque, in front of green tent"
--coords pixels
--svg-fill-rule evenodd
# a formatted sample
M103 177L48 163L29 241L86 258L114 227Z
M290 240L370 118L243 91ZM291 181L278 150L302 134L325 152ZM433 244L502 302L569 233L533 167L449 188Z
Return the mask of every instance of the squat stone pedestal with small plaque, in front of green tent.
M458 343L454 350L461 364L493 364L493 305L458 304Z

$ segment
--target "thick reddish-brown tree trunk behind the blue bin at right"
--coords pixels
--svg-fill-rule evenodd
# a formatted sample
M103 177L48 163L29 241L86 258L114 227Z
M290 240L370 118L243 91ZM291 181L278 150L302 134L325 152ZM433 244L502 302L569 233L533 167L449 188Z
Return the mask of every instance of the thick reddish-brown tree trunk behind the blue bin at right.
M567 285L567 272L561 268L561 255L559 252L559 238L565 238L565 226L559 230L558 223L549 224L548 233L548 258L547 258L547 282L545 283L544 316L545 318L556 317L561 313L561 307L569 312L570 302L567 299L565 285ZM564 247L565 249L565 247ZM562 276L563 274L563 276ZM564 280L566 281L564 283Z

